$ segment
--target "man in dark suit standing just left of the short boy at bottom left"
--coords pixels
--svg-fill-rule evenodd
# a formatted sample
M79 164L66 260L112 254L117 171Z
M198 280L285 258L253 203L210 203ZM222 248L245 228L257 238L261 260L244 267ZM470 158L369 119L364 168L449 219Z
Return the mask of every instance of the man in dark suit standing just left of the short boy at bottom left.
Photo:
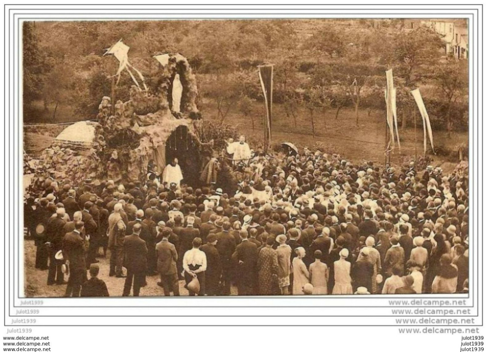
M81 284L86 280L85 253L88 250L88 240L81 238L84 222L75 223L75 230L68 232L62 241L62 253L69 265L69 280L65 297L79 297Z

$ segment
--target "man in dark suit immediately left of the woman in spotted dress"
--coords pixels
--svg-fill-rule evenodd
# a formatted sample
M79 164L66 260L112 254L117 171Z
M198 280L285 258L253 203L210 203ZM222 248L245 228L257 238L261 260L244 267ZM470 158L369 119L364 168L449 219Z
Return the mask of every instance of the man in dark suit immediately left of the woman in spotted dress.
M239 296L254 294L257 245L249 242L246 230L240 231L242 242L235 248L232 259L236 267L237 289Z

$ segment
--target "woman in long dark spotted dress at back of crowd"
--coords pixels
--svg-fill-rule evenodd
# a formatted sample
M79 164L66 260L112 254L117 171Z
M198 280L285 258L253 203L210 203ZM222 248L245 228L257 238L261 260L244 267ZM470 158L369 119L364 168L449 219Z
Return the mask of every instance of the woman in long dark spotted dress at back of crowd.
M277 252L272 248L274 238L267 239L265 247L259 252L257 270L259 272L259 295L273 295L277 289Z

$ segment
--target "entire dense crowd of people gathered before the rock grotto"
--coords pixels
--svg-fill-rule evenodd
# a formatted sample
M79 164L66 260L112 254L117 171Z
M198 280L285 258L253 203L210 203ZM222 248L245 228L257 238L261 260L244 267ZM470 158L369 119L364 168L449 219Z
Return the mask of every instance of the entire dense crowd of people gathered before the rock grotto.
M65 296L139 296L151 275L165 296L180 280L198 296L468 292L467 175L306 148L252 155L245 169L230 194L218 177L38 178L24 206L36 268ZM101 255L120 291L97 278Z

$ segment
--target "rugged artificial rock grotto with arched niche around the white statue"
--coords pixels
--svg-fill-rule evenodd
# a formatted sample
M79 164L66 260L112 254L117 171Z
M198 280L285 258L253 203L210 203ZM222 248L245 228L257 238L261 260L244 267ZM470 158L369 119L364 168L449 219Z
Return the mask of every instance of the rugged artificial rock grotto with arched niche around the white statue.
M86 177L135 181L144 179L150 161L162 172L168 148L172 152L179 148L178 153L191 149L193 154L201 150L204 144L197 133L201 115L196 107L195 75L184 56L165 57L167 63L162 60L166 64L159 66L155 86L145 91L132 85L130 100L125 102L112 102L104 96L98 107L98 123L91 123L93 136L85 136L83 143L58 141L41 156L37 173L48 171L73 183ZM173 109L172 88L177 77L180 101ZM199 163L197 158L192 160L193 167L195 163Z

